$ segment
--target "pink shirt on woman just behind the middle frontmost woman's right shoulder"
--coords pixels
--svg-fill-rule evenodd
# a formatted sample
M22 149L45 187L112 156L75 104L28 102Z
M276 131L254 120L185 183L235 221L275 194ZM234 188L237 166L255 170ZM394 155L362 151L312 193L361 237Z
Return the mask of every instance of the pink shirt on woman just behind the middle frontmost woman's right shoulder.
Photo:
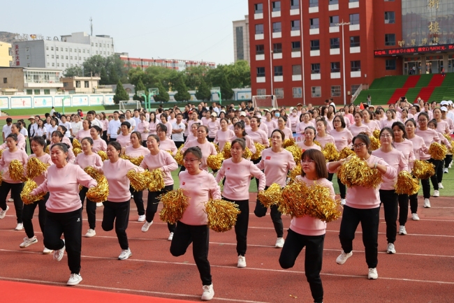
M249 184L251 176L258 179L258 191L265 189L265 174L254 163L242 159L240 163L234 163L232 158L224 160L222 167L216 175L219 183L224 177L224 191L222 195L233 201L249 200Z

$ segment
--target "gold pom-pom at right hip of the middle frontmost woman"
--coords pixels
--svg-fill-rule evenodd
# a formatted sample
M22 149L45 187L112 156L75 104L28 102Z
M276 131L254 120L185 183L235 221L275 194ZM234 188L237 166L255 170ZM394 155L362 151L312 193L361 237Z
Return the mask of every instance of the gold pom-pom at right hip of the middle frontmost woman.
M205 204L205 212L208 216L209 228L215 232L226 232L235 226L240 209L233 202L209 200Z

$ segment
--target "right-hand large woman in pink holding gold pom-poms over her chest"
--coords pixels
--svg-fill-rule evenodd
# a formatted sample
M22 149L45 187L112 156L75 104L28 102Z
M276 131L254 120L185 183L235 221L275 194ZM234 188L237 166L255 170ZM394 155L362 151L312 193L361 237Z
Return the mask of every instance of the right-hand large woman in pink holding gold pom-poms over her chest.
M353 138L353 147L356 156L363 159L369 168L379 170L384 179L394 179L397 171L382 158L369 154L370 139L367 135L359 134ZM337 172L345 159L328 163L328 172ZM380 197L379 189L368 189L363 186L350 187L346 195L346 205L342 213L342 222L339 230L339 239L342 253L336 263L343 265L353 255L353 239L356 228L361 223L363 229L363 244L365 246L366 263L369 267L368 279L377 279L378 238L379 238Z

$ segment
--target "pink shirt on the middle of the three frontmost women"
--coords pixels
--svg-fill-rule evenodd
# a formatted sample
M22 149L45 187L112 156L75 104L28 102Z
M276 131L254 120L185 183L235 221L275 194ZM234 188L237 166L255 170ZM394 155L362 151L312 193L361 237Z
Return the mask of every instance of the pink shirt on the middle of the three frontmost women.
M213 175L201 170L198 175L190 175L189 172L180 172L180 189L189 198L189 205L184 211L180 221L191 226L207 225L205 202L210 198L221 199L221 189Z

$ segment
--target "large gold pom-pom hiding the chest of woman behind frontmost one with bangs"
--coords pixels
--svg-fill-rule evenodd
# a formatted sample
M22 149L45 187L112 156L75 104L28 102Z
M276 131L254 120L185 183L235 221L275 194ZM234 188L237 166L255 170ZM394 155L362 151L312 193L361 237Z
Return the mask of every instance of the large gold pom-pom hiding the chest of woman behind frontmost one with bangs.
M358 156L352 156L342 163L337 177L347 187L363 186L366 189L376 189L381 184L381 173L379 170L371 169L366 161Z

